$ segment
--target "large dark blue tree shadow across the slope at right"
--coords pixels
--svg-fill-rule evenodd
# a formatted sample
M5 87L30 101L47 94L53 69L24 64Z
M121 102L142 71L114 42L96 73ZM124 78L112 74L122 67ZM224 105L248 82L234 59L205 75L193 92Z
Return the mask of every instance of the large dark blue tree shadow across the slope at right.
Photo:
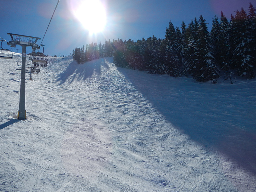
M239 97L236 102L231 98L229 100L228 90L233 87L228 90L224 88L224 91L209 84L194 83L191 87L186 85L184 78L150 74L144 78L144 74L134 75L143 72L122 68L118 70L180 132L208 149L213 148L225 154L239 166L256 174L255 121L246 120L246 115L250 114L248 110L253 110L250 107L253 101L244 106L244 103L239 103ZM163 84L165 81L166 84ZM230 109L231 105L232 110L237 108L236 112Z

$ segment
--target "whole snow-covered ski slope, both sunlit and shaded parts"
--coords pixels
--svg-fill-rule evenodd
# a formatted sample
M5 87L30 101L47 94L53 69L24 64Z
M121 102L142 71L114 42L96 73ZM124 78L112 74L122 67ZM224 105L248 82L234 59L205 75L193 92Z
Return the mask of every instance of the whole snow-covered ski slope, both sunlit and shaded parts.
M19 121L15 57L0 59L0 191L255 191L255 80L50 57Z

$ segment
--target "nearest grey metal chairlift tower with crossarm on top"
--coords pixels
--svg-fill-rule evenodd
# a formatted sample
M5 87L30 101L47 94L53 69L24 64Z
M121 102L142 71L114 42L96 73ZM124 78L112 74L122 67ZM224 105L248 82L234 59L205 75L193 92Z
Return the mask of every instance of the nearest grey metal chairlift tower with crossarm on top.
M12 41L9 41L7 44L11 47L16 47L16 45L22 46L22 64L21 64L21 78L20 78L20 104L18 117L19 120L26 119L26 47L32 47L32 50L39 49L37 40L41 39L39 37L18 35L13 33L7 33L12 38Z

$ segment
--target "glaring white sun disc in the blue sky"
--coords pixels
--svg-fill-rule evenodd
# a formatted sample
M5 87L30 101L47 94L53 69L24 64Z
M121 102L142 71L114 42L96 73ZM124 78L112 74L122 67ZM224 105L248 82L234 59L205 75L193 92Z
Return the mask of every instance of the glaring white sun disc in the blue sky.
M100 0L81 0L73 8L74 15L90 34L102 32L106 26L106 11Z

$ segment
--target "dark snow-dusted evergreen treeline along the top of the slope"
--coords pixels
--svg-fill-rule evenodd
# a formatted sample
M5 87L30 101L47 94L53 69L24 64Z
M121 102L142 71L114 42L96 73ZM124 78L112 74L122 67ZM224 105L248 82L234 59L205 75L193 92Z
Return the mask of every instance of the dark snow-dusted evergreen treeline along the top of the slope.
M73 50L73 58L84 63L101 57L113 56L118 67L146 70L170 76L192 76L198 82L212 81L221 72L231 80L238 76L254 78L256 67L256 13L250 3L248 14L242 8L228 21L221 12L215 16L209 32L201 15L186 26L166 28L165 38L154 35L146 39L113 40L105 44L87 44ZM232 83L232 80L231 80Z

